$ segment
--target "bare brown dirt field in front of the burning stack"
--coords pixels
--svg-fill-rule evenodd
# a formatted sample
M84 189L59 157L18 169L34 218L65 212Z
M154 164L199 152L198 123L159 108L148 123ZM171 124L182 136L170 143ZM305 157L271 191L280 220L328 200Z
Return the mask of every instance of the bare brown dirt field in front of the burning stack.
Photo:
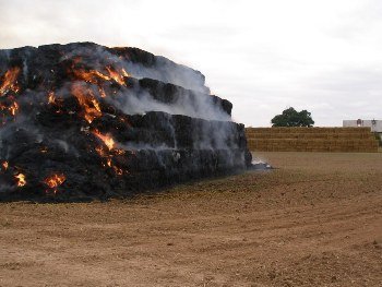
M0 204L0 286L382 286L382 153L132 201Z

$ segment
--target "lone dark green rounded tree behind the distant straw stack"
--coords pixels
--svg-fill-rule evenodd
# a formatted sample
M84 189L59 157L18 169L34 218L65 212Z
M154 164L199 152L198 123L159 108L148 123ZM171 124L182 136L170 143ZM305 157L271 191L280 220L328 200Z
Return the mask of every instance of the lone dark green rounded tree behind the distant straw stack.
M271 122L272 127L312 127L314 124L308 110L297 111L293 107L275 116Z

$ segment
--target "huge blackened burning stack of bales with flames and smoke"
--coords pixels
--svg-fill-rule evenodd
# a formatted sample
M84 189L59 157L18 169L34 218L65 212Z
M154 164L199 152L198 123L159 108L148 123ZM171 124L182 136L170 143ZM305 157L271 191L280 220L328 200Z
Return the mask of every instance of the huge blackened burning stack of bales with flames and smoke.
M0 50L0 200L136 194L251 165L204 75L138 48Z

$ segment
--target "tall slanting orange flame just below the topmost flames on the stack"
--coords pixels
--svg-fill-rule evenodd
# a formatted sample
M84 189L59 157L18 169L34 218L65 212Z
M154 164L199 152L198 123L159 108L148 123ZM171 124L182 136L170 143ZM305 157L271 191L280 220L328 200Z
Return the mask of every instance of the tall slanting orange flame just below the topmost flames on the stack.
M72 94L76 97L79 104L83 108L84 118L88 123L92 123L94 119L103 115L100 111L99 103L91 89L85 88L81 85L72 85Z

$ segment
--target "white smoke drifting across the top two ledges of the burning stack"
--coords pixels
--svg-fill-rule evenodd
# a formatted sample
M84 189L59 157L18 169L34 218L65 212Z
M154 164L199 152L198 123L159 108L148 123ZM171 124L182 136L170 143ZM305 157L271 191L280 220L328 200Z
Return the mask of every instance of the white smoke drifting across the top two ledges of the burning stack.
M218 105L213 103L210 88L204 85L204 75L191 68L176 64L164 57L156 56L153 67L134 63L123 57L117 57L103 46L75 48L61 60L81 57L92 69L103 71L106 65L124 69L132 77L148 77L164 83L171 83L182 88L177 89L176 101L163 103L156 100L145 89L122 89L120 101L122 110L128 115L164 111L170 115L183 115L207 120L230 121L231 118ZM192 92L190 91L192 89ZM192 96L193 95L193 96Z

